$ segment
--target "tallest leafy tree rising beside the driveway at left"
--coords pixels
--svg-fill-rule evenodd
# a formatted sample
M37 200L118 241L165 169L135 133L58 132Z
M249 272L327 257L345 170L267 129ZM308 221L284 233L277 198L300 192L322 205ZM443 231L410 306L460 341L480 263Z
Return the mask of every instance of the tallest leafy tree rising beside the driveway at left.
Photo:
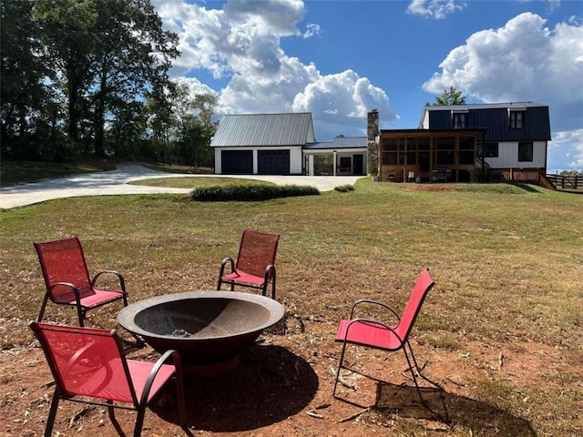
M169 82L178 36L162 30L149 0L35 0L45 54L66 100L69 141L106 155L119 106Z

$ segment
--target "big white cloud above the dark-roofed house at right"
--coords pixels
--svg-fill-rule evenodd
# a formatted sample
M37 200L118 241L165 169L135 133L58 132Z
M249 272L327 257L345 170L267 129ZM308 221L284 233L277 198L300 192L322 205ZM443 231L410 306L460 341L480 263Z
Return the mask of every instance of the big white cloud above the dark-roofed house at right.
M470 36L440 64L425 91L455 86L484 102L536 101L551 107L555 130L583 123L583 27L573 21L548 29L539 15L517 15L498 29Z

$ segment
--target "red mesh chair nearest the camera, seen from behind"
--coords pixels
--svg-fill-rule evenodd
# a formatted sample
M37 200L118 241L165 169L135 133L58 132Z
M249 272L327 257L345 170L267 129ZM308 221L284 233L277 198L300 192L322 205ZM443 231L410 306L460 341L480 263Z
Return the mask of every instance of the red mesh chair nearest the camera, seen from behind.
M28 326L40 341L55 378L55 393L46 419L46 437L50 437L53 430L61 399L107 406L116 429L119 424L114 409L134 410L138 412L134 437L138 437L148 404L170 380L176 381L179 424L183 428L186 426L182 371L177 351L167 351L155 363L127 360L115 330L36 321L31 321ZM173 363L166 364L170 357Z

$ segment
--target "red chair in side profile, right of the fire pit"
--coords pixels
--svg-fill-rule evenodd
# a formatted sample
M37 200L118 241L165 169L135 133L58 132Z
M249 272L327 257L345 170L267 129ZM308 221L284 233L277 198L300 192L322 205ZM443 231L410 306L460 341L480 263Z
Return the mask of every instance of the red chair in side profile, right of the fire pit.
M417 378L415 372L423 378L425 381L430 382L435 387L438 387L434 381L431 381L424 377L417 360L415 359L413 348L411 347L411 342L409 341L409 334L413 329L414 321L421 310L421 306L425 300L425 296L429 290L433 288L435 282L431 279L429 275L429 270L424 269L414 285L414 289L411 292L411 296L404 309L403 315L399 317L398 313L393 310L388 305L378 302L375 300L356 300L353 303L353 308L350 314L350 320L341 320L336 332L336 341L342 341L343 351L340 355L340 362L338 364L338 371L336 371L336 381L334 382L334 391L332 392L334 397L336 396L336 387L338 386L338 380L340 378L340 370L343 366L344 353L346 351L346 346L349 343L357 344L360 346L366 346L373 349L378 349L382 351L404 351L404 357L409 365L409 370L413 376L413 381L415 388L417 389L417 394L419 399L424 404L423 397L421 396L421 390L419 389L419 384L417 383ZM362 304L372 304L377 307L380 306L384 310L389 311L389 316L391 318L396 318L396 324L388 321L373 320L366 318L354 318L354 310L357 306ZM408 350L408 351L407 351ZM411 360L409 359L409 353L413 359L414 367Z

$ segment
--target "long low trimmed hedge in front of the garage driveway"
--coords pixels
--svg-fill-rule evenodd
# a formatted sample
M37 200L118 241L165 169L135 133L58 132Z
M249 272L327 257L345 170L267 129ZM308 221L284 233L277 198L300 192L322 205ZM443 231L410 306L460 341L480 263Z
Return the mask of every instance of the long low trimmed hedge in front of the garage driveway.
M192 191L192 199L199 201L269 200L320 194L317 188L297 185L222 185L199 187Z

